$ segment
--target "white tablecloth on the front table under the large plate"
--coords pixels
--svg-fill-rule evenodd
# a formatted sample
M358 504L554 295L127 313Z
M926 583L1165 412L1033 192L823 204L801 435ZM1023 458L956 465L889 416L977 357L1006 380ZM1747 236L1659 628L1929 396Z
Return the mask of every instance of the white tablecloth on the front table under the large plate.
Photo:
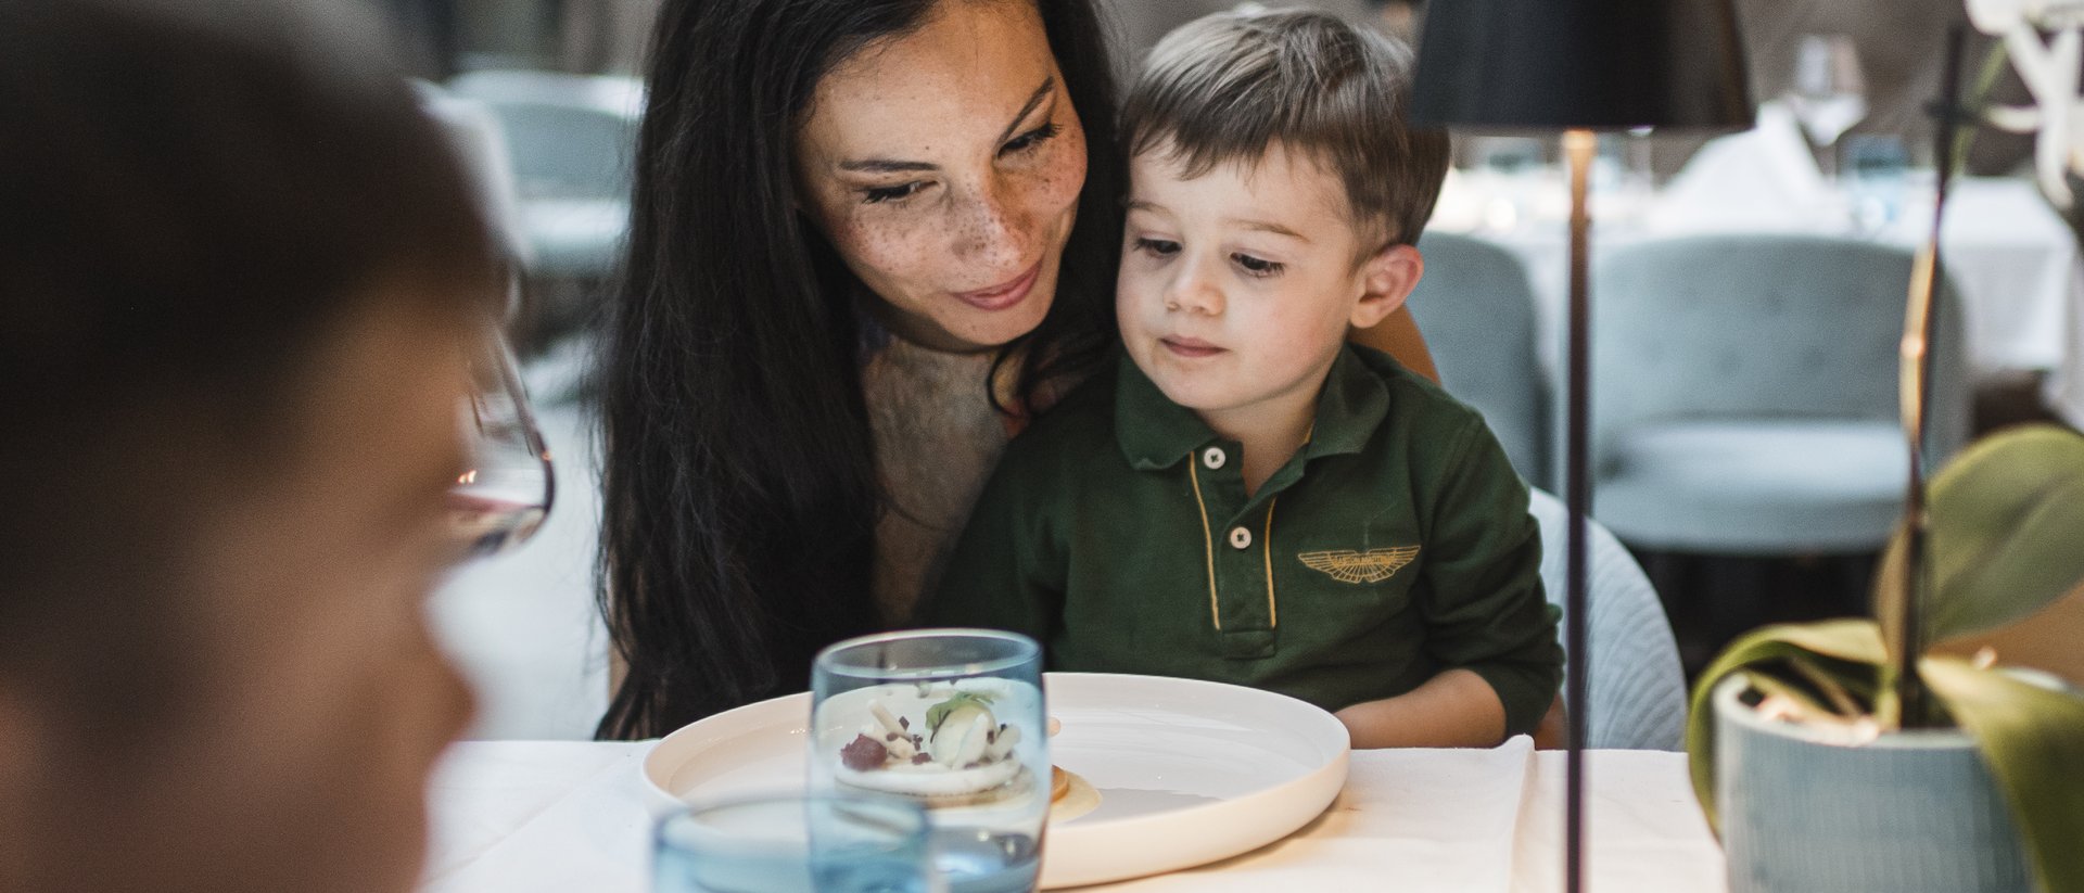
M431 791L425 893L640 893L648 745L471 741ZM1686 756L1592 751L1590 889L1723 891L1721 847L1686 781ZM1300 833L1175 874L1090 887L1161 891L1559 891L1563 754L1357 751L1344 793Z

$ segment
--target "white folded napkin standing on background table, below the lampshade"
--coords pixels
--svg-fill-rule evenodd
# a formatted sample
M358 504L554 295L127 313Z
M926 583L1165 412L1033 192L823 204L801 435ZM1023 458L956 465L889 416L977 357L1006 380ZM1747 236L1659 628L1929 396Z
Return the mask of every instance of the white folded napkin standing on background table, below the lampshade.
M1715 137L1644 212L1653 233L1840 231L1842 200L1817 173L1794 112L1759 106L1757 127Z

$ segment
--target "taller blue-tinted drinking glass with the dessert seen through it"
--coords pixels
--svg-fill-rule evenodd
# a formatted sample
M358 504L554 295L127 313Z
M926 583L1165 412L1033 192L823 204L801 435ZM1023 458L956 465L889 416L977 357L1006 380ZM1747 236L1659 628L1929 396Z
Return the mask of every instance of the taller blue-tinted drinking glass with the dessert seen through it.
M1042 647L923 629L848 639L813 666L811 791L921 803L950 893L1036 889L1052 783Z

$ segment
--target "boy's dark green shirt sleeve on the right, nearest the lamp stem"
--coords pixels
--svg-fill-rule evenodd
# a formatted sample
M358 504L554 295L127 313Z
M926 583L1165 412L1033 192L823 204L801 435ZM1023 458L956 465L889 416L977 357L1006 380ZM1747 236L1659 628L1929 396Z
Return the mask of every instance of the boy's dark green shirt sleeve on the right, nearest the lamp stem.
M1528 485L1482 420L1463 429L1430 514L1425 652L1490 683L1507 735L1532 733L1563 685L1563 645L1542 591Z

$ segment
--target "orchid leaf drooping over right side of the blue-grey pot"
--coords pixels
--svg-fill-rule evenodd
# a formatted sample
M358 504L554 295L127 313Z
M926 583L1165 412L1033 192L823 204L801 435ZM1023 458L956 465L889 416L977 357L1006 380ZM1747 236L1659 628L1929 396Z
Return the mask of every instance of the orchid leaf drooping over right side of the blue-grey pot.
M2084 891L2084 699L1953 658L1919 662L1982 749L2042 891Z

